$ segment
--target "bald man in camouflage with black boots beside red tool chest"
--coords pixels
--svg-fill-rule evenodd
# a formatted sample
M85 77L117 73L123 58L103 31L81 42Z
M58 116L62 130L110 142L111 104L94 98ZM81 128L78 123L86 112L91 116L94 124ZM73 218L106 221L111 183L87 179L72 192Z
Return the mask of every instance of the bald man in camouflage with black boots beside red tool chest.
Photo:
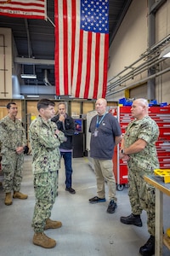
M156 141L159 136L159 128L156 122L148 115L148 102L145 99L137 99L131 108L133 118L122 139L120 158L127 160L129 199L132 213L127 217L121 217L123 224L133 224L141 227L140 214L142 210L147 212L149 240L140 247L142 255L155 253L155 189L144 181L144 175L153 174L154 169L159 168L156 154Z

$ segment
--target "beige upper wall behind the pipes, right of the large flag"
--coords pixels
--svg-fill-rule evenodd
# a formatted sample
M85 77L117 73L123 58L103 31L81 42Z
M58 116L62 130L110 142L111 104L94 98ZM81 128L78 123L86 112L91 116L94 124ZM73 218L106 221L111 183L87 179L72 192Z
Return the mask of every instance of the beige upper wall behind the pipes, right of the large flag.
M116 33L116 37L110 47L110 65L108 71L107 99L118 101L125 97L126 88L130 97L149 96L149 88L146 86L148 71L142 70L139 75L133 77L133 68L144 63L142 56L149 49L149 0L133 0L122 24ZM155 14L156 42L170 34L170 1L161 5ZM163 49L163 48L162 48ZM161 53L161 52L160 52ZM134 64L133 64L134 63ZM132 65L133 64L133 65ZM164 59L154 67L159 73L170 67L169 59ZM126 73L132 73L124 83L119 84L120 78ZM169 71L156 76L155 90L158 102L169 102ZM145 80L144 80L145 79ZM143 81L143 82L142 82ZM116 86L110 85L114 82ZM132 85L132 88L130 87ZM112 86L112 87L111 87Z

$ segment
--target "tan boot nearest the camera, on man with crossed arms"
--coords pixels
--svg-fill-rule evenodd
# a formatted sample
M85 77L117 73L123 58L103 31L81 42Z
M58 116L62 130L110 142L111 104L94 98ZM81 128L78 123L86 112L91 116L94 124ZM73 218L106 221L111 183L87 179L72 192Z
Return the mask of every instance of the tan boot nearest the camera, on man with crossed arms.
M46 236L44 233L35 233L33 236L33 244L39 247L53 248L56 246L56 241Z

